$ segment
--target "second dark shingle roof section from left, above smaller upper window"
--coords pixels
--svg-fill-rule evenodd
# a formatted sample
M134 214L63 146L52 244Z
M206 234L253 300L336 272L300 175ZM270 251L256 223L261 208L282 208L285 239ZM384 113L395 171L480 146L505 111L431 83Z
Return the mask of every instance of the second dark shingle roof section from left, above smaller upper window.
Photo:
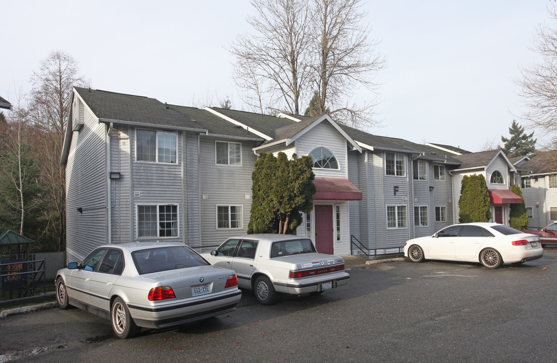
M255 135L255 133L247 131L245 128L236 126L233 123L226 121L223 118L218 117L217 115L214 115L207 110L201 110L200 108L195 107L174 105L171 105L170 107L187 117L189 120L195 122L199 128L204 128L213 135L248 137L256 138L257 140L263 141L263 138Z

